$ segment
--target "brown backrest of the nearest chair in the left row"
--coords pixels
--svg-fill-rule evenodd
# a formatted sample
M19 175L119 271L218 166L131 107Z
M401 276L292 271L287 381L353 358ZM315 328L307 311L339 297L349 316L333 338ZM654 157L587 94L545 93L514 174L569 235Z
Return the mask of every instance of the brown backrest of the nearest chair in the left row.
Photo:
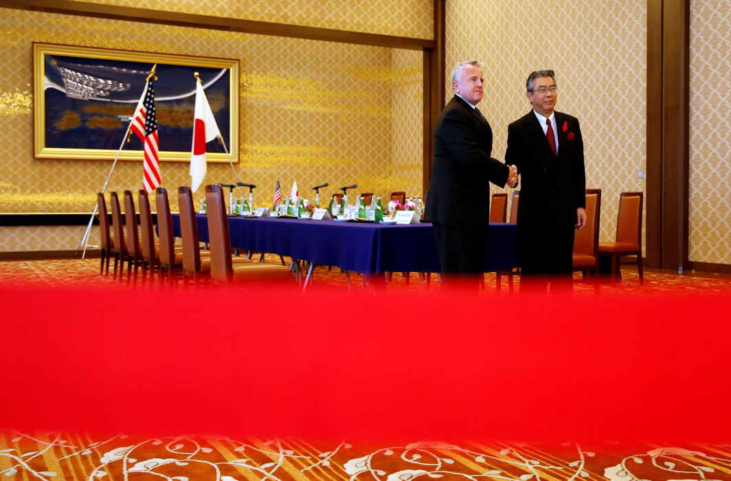
M231 236L226 203L221 186L205 186L205 216L208 220L208 244L211 249L211 279L230 282L233 277L231 262Z

